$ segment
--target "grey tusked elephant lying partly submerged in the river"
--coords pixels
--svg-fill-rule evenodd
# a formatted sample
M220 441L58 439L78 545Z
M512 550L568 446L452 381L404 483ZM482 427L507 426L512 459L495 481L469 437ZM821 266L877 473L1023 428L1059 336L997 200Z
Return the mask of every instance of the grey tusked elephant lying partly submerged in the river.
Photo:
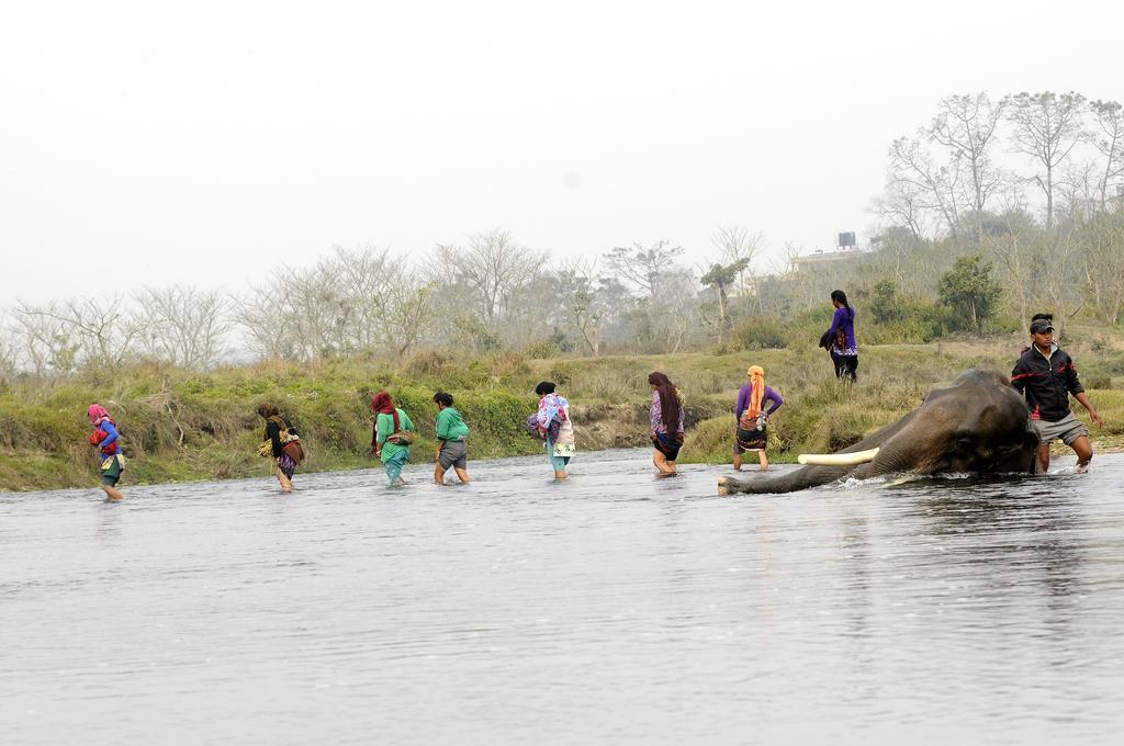
M1007 376L973 367L930 391L921 407L898 421L839 454L801 456L801 463L810 465L778 476L724 476L718 493L795 492L845 477L898 472L1034 473L1037 447L1030 410Z

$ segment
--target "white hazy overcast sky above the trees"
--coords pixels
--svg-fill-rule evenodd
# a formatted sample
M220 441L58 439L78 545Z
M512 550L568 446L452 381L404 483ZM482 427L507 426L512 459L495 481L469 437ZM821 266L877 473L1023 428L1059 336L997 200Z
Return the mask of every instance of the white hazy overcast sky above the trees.
M4 3L8 294L241 290L336 244L492 227L691 262L718 225L774 256L862 243L890 140L942 97L1124 98L1121 7Z

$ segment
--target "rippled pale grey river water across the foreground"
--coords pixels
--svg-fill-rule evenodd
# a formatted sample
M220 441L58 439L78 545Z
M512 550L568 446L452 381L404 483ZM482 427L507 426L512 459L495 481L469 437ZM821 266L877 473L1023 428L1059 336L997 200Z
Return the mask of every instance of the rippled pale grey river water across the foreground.
M1072 463L785 497L646 451L562 483L511 458L3 493L0 742L1120 743L1124 456Z

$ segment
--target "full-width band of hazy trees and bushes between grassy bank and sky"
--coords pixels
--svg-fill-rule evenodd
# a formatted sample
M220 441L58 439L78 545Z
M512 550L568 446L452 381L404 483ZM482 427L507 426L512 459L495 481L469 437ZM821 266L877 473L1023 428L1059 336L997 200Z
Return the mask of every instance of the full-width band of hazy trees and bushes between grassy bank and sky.
M492 229L429 252L334 248L244 292L173 285L17 301L0 319L0 373L90 366L369 357L419 349L533 356L674 353L807 343L845 289L874 342L1013 330L1033 313L1124 316L1124 112L1076 92L949 95L890 143L868 251L798 271L762 266L763 237L714 231L709 258L667 239L559 258ZM869 311L869 313L865 313ZM801 326L803 325L803 326Z

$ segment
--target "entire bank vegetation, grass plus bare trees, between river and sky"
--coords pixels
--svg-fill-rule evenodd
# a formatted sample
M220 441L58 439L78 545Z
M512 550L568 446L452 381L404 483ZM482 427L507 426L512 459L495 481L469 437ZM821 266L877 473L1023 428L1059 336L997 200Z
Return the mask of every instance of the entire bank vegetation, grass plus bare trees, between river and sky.
M305 471L370 465L381 388L422 429L416 462L433 448L437 389L473 428L473 458L537 452L522 422L542 379L572 399L579 447L643 446L652 370L687 394L683 460L722 462L751 363L788 401L771 435L786 461L858 439L966 366L1009 371L1035 312L1053 315L1105 416L1094 439L1121 435L1120 103L950 95L889 144L871 211L881 224L861 248L789 245L773 266L746 227L690 252L645 237L597 261L491 229L429 251L336 247L241 292L17 300L0 313L0 489L90 483L91 401L120 420L134 483L263 473L266 400L307 439ZM853 389L816 348L834 289L858 315Z

